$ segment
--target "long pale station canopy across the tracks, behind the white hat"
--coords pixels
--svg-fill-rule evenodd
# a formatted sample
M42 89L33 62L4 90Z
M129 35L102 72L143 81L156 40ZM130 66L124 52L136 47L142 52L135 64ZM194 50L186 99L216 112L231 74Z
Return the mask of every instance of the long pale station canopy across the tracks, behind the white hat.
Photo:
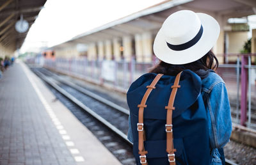
M173 12L193 10L212 15L225 28L229 18L256 14L256 0L171 0L156 4L122 19L92 29L71 40L52 47L61 49L77 43L93 43L150 31L156 35L164 20Z

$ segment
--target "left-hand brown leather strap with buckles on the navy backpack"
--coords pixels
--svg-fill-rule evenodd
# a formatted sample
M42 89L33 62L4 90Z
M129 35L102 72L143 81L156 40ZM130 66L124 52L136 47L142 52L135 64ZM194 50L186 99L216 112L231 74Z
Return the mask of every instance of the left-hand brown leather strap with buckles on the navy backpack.
M140 154L140 162L141 164L147 164L147 158L146 154L148 153L145 151L143 141L145 140L145 132L143 129L143 112L144 108L147 107L146 102L148 99L149 94L153 89L156 87L156 83L159 81L159 79L163 76L163 74L157 74L155 79L152 81L150 86L147 86L147 91L145 92L145 95L143 96L141 103L138 105L139 107L139 115L138 115L138 124L137 124L137 130L138 130L138 149L139 149L139 154Z

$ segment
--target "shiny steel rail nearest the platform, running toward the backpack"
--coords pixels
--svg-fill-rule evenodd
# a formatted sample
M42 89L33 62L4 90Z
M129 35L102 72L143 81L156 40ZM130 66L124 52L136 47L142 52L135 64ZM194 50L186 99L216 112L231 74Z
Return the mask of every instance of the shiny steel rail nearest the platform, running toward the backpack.
M115 132L115 134L117 134L118 136L120 136L122 139L124 139L124 141L126 143L128 143L129 145L132 145L131 141L129 141L127 139L127 135L125 135L121 130L117 129L114 125L112 125L111 123L109 123L107 120L105 120L104 118L102 118L101 116L99 116L99 114L95 113L94 111L92 111L92 109L90 109L89 107L85 106L82 102L80 102L79 100L77 100L77 98L73 97L72 95L70 95L67 91L63 90L60 86L58 86L58 84L54 83L51 79L49 79L49 77L46 77L44 74L42 74L41 72L35 71L36 74L38 76L40 76L46 83L48 83L49 85L51 85L55 90L57 90L58 92L60 92L62 95L64 95L65 97L67 97L69 100L71 100L72 102L74 102L74 104L76 104L77 106L81 107L81 109L83 109L84 111L86 111L87 113L89 113L91 116L93 116L93 118L97 119L99 122L103 123L106 127L108 127L108 129L110 129L111 131Z

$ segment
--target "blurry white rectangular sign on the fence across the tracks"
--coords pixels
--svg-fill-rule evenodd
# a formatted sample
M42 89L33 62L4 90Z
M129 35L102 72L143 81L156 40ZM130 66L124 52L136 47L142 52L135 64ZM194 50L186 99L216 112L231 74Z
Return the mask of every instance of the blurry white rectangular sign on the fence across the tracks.
M107 81L115 81L115 61L102 61L101 76Z

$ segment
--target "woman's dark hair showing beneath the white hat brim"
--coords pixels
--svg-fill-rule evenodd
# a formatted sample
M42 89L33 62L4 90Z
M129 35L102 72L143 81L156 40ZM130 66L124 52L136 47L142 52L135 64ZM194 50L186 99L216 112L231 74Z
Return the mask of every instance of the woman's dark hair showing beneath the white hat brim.
M215 63L214 63L215 61ZM152 68L149 72L164 75L177 75L182 70L189 69L198 74L201 79L204 79L209 74L210 70L216 70L219 62L212 51L207 52L202 58L184 65L173 65L160 61L156 67Z

